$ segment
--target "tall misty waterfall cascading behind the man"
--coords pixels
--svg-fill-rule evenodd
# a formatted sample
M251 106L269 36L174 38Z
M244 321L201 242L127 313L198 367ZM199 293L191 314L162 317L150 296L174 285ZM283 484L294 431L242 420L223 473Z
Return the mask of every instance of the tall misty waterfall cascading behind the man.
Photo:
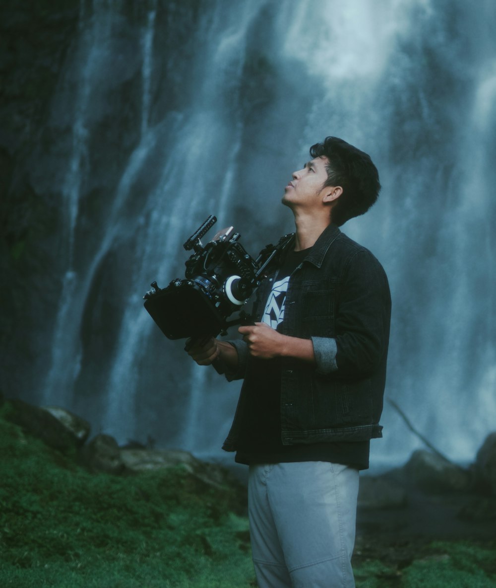
M496 423L495 16L461 0L278 4L82 2L50 122L64 231L39 396L121 443L218 455L239 383L192 365L141 296L184 275L208 214L252 255L292 230L283 187L335 135L383 185L343 231L390 279L386 396L470 460ZM383 425L376 463L419 446L387 403Z

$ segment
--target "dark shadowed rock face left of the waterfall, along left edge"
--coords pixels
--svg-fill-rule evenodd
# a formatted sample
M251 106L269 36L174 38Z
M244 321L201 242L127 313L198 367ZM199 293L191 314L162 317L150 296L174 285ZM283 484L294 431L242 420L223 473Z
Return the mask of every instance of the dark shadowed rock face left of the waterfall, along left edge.
M78 15L75 0L0 3L0 270L9 286L2 293L0 346L5 366L16 368L2 369L0 382L28 400L50 353L36 325L46 327L49 300L53 305L58 299L60 286L50 259L60 252L55 235L62 208L53 189L38 191L32 153L35 145L55 142L43 129ZM53 185L57 183L54 178ZM26 360L31 369L25 369Z

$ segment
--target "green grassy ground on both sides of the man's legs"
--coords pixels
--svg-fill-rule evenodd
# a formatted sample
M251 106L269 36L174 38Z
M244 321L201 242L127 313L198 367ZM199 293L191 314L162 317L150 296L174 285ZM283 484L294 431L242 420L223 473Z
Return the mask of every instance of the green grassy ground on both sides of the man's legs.
M255 586L236 487L177 467L89 473L4 419L0 409L0 586ZM390 549L390 548L389 548ZM383 553L384 556L380 556ZM389 556L387 555L389 553ZM496 587L496 543L426 542L403 561L374 545L355 557L357 588Z

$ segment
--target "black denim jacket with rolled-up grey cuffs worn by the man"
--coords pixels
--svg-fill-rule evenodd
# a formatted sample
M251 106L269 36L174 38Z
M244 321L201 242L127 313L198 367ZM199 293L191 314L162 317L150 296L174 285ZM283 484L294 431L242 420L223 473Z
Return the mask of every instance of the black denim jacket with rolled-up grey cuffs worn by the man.
M292 243L289 246L293 246ZM259 321L276 269L258 288L252 315ZM382 437L386 359L391 298L379 261L329 225L295 269L286 293L282 333L312 339L315 365L292 358L281 361L282 443L359 441ZM250 369L242 340L240 379ZM223 449L237 449L239 415L245 386Z

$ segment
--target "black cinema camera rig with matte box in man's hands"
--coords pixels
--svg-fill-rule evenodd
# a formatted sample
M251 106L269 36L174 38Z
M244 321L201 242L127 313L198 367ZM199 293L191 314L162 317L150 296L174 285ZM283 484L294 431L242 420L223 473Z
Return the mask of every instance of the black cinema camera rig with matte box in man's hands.
M200 239L216 222L210 215L184 243L185 250L194 249L185 262L185 278L172 280L164 289L152 282L152 289L143 296L144 308L168 339L215 337L227 334L230 326L252 323L242 306L291 238L285 235L277 245L267 245L254 260L232 226L220 230L203 246ZM239 316L227 320L235 311Z

